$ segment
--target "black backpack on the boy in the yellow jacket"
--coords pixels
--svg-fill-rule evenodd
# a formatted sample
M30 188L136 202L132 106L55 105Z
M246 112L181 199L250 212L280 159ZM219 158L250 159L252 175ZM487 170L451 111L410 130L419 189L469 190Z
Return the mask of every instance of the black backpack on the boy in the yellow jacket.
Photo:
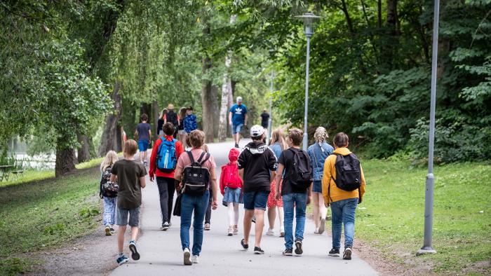
M354 191L360 189L361 186L361 167L360 160L350 153L347 156L341 154L332 153L336 156L336 179L331 178L336 184L337 188L344 191Z

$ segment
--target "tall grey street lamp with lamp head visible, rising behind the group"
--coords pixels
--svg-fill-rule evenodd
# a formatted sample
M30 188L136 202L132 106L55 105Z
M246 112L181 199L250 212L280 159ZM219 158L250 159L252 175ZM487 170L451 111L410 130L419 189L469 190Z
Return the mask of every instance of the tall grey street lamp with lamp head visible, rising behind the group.
M305 112L304 112L304 140L303 148L307 151L309 144L309 135L307 134L307 115L309 109L309 60L310 60L310 38L314 34L314 22L321 18L314 13L304 13L303 15L295 16L304 22L304 34L307 37L307 66L305 70Z

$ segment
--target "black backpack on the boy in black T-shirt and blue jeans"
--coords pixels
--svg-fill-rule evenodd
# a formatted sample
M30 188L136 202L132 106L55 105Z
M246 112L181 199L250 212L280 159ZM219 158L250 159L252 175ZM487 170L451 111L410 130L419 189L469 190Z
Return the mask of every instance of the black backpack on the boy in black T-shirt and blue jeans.
M289 150L293 153L292 165L288 174L290 184L297 188L309 188L312 183L312 167L309 155L302 150Z

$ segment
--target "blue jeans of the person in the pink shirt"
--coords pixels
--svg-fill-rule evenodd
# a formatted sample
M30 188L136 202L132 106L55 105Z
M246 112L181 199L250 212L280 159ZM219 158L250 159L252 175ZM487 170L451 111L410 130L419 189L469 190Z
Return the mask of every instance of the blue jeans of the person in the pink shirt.
M182 195L181 199L181 245L182 250L189 248L189 228L191 227L191 216L194 210L194 233L193 233L193 255L199 256L201 244L203 244L203 220L206 208L208 208L210 191L204 195Z

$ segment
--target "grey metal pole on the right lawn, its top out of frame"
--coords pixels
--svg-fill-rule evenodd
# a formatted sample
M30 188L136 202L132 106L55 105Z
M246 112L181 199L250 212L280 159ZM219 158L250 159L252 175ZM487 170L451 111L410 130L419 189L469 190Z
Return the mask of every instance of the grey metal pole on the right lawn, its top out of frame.
M431 56L431 102L429 125L428 174L424 193L424 242L417 254L436 253L432 246L433 235L433 147L435 141L435 108L436 108L436 67L438 64L438 21L440 17L440 0L435 0L433 14L433 53Z

